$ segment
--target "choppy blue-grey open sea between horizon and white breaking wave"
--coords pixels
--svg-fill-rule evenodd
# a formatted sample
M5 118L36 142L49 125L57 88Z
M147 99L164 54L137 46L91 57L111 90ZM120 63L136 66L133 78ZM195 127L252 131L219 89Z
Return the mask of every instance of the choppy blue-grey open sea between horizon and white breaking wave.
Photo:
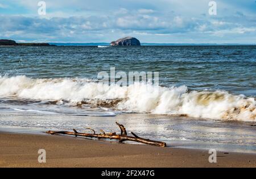
M97 78L98 72L159 72L163 86L256 96L256 45L1 47L0 74Z

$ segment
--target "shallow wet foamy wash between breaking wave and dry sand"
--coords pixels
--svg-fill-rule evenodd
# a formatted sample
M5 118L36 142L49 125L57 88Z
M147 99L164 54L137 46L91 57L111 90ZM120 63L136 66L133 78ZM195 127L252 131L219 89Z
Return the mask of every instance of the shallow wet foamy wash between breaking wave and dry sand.
M223 123L217 120L193 120L176 116L120 114L99 117L1 113L0 131L48 135L45 133L48 130L72 131L72 128L75 128L82 132L86 127L90 127L96 131L102 129L106 132L119 133L119 127L115 122L124 124L129 134L134 132L142 138L164 141L167 148L216 149L256 154L255 127L250 126L250 123ZM246 137L242 134L246 134Z

